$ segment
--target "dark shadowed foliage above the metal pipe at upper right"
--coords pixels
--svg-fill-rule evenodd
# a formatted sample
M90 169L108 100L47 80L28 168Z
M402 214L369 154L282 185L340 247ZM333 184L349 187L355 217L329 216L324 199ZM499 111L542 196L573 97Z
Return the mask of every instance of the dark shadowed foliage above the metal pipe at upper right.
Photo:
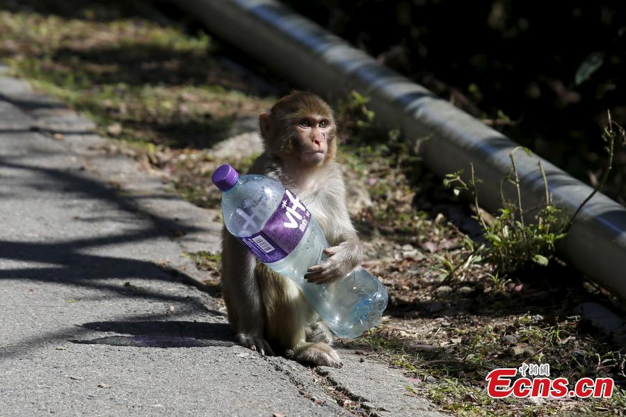
M618 1L283 3L584 181L606 163L607 109L626 124ZM623 149L616 160L604 191L625 204Z

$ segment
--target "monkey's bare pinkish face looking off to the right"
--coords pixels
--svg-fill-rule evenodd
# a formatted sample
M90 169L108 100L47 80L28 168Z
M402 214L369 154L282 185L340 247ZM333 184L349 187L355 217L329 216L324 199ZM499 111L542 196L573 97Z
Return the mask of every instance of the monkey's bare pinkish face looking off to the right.
M335 138L335 126L328 117L306 115L296 120L291 137L296 157L305 165L319 165L326 160L330 142Z

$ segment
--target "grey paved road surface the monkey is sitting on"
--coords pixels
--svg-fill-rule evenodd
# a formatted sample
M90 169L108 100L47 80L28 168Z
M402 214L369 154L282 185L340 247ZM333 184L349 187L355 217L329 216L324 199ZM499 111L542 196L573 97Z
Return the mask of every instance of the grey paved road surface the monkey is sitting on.
M219 249L216 212L93 130L0 75L1 416L349 415L335 391L374 415L436 414L355 352L312 369L236 345L184 256Z

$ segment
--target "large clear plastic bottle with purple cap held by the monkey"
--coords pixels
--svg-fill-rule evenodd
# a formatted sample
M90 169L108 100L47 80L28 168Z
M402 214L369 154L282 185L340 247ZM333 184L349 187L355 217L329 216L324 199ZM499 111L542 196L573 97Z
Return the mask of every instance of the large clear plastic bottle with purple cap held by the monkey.
M298 284L333 333L355 338L376 325L387 307L387 290L363 268L332 284L304 279L308 268L328 258L322 251L330 245L296 195L263 175L240 177L230 165L220 166L212 180L223 191L226 229L259 261Z

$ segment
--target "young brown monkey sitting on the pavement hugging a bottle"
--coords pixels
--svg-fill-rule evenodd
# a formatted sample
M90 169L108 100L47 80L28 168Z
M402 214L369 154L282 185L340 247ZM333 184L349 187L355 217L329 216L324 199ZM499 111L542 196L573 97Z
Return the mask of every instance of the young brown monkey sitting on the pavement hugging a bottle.
M259 115L264 153L250 174L278 179L294 191L319 223L328 259L305 279L336 281L361 259L348 216L342 172L335 162L337 134L332 109L309 92L292 92ZM315 366L342 366L330 347L332 334L291 280L257 262L248 248L223 231L222 287L228 319L241 345L261 354L284 354Z

